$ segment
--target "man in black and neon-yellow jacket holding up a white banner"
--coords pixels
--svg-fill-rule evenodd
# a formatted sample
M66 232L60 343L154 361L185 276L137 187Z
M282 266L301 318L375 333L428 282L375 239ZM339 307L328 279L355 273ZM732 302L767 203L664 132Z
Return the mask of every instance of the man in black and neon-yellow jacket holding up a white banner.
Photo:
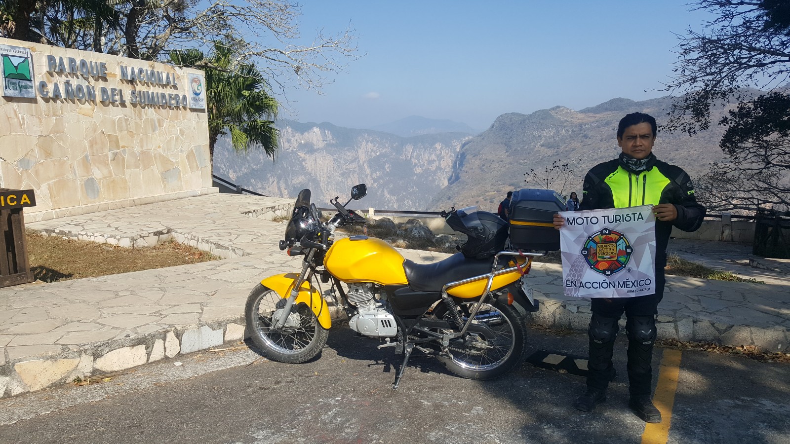
M655 141L656 119L639 112L626 115L617 128L617 143L623 152L615 160L596 165L585 176L581 210L654 205L656 293L630 298L592 298L587 390L574 404L582 412L592 412L597 404L606 401L606 389L615 377L611 356L618 322L625 313L630 382L628 405L648 423L661 422L661 414L650 396L651 360L656 340L657 307L664 296L669 235L673 226L695 231L705 217L705 208L694 199L694 189L686 171L657 160L653 155ZM559 230L564 224L562 217L555 214L555 228Z

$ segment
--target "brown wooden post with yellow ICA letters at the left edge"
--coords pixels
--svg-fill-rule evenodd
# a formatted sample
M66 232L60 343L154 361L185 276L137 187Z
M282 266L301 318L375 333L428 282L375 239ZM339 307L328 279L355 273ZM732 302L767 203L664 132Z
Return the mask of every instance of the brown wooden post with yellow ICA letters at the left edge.
M36 205L33 190L0 188L0 287L32 282L23 208Z

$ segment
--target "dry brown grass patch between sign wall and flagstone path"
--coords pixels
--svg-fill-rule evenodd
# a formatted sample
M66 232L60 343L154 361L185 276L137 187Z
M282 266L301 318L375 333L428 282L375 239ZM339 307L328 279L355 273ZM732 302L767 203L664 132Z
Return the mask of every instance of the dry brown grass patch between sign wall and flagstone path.
M43 237L27 231L30 269L38 280L79 279L145 269L196 264L219 259L213 254L174 241L150 248L125 248L101 243Z

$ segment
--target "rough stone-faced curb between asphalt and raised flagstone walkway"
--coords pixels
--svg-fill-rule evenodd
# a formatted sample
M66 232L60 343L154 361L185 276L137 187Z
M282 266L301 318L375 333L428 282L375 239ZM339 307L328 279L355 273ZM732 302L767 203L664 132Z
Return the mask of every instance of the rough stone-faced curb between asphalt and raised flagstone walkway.
M527 315L528 322L586 333L592 315L589 307L548 299L537 300L540 309ZM346 319L345 314L336 307L330 307L330 310L335 325ZM244 317L239 316L200 325L160 329L119 341L63 346L62 352L50 356L36 356L34 359L25 357L11 360L8 356L0 356L0 398L14 397L67 384L77 378L111 374L242 341L248 337L244 324ZM620 324L624 327L625 320L621 319ZM781 328L725 325L720 322L693 318L675 319L659 315L656 318L656 329L659 339L718 342L733 346L756 345L772 352L790 350L788 331Z

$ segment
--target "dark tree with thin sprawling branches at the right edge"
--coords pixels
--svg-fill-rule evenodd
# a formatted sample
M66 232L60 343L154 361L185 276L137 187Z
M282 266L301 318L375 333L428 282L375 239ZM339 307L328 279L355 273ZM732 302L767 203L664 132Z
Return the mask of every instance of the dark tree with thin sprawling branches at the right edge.
M784 0L697 0L717 14L705 32L679 36L679 61L666 91L663 130L693 135L726 107L720 148L727 156L698 178L712 209L790 209L790 9Z

